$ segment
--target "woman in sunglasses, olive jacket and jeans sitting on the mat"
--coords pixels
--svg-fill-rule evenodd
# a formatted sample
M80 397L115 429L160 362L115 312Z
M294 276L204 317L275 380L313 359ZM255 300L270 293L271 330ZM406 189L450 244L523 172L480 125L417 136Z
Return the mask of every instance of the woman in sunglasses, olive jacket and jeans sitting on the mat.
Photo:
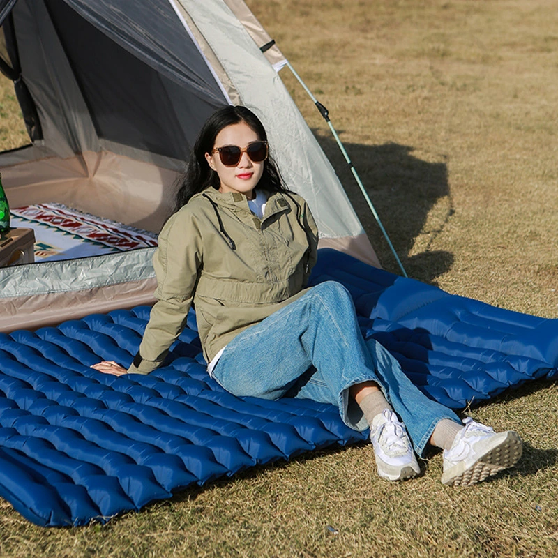
M336 405L349 427L370 428L379 476L420 473L410 439L418 455L428 443L444 448L448 485L472 485L514 465L520 437L471 418L464 425L426 398L386 349L363 340L345 287L306 288L317 239L308 205L282 185L257 116L246 107L218 110L199 134L177 211L159 236L158 302L140 350L128 370L106 361L93 368L149 374L194 303L211 377L234 395Z

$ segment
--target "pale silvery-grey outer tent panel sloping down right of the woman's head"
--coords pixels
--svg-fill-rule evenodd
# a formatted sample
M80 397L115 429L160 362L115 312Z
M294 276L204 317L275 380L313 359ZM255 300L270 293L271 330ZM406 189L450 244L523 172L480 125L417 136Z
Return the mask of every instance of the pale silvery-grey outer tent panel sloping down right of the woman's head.
M209 42L241 103L262 119L289 188L308 202L320 236L358 236L363 228L289 92L248 31L220 0L180 0ZM220 29L222 33L212 30ZM255 87L254 84L258 86ZM335 193L335 195L331 195Z

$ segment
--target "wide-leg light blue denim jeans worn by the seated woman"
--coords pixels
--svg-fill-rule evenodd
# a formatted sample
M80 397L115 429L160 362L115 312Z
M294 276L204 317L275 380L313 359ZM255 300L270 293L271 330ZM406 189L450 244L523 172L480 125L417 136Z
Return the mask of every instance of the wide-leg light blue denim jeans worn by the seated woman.
M363 339L349 292L333 281L312 287L237 335L213 378L239 397L331 403L354 430L365 430L368 423L349 389L372 380L407 426L418 455L442 418L461 423L451 409L419 391L382 345Z

